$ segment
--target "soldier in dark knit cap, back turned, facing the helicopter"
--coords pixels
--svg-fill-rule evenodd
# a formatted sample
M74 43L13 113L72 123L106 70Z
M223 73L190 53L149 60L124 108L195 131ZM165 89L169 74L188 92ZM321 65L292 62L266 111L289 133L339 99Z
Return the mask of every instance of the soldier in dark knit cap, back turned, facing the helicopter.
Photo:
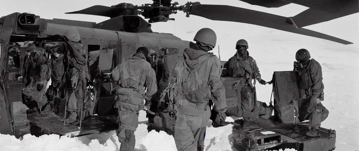
M129 60L120 63L111 74L107 73L111 75L112 80L118 81L115 93L118 108L117 122L120 123L118 128L120 151L134 150L136 142L134 132L138 126L139 111L144 109L150 112L150 100L157 94L156 73L146 61L148 53L146 47L140 47ZM145 88L147 88L146 92Z

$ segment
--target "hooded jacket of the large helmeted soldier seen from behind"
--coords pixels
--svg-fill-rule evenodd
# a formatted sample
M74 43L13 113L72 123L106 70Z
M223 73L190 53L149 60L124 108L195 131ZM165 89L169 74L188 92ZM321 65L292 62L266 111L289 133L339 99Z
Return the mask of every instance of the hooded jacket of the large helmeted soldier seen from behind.
M193 70L196 70L198 86L186 83L186 81L190 80L191 77L188 77L188 75ZM186 99L185 94L188 94L188 91L199 89L202 92L200 98L205 100L213 99L217 110L225 109L227 104L225 89L220 80L221 74L222 69L219 58L213 55L213 53L201 50L196 44L191 42L190 48L186 48L183 56L178 58L172 74L170 74L168 84L170 88L169 98L176 104L179 103L178 105L181 107L183 104L186 104L181 103L182 100L191 102L191 100Z

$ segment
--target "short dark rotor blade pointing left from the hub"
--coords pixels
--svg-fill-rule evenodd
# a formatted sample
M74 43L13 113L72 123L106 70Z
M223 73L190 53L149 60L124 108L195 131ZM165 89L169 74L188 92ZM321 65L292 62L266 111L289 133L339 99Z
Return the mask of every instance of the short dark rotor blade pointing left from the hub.
M97 15L97 16L105 16L112 18L112 17L116 17L119 13L121 13L120 8L95 5L89 8L85 8L83 10L73 11L65 14L86 14L86 15Z

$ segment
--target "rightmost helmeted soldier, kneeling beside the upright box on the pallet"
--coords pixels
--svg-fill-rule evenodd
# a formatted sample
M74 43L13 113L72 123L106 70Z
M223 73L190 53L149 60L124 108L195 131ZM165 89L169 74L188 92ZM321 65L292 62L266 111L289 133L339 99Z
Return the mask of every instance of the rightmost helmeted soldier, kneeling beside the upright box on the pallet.
M307 49L299 49L295 53L294 71L299 71L300 88L305 90L306 102L302 102L299 111L299 121L309 119L309 129L306 133L309 137L320 136L319 127L329 114L329 111L321 103L324 100L324 85L322 67L311 58Z

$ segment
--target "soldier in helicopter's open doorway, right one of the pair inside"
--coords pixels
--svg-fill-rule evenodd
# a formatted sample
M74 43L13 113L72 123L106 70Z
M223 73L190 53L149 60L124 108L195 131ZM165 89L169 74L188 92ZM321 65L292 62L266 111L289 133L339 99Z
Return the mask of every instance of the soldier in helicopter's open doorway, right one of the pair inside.
M85 46L81 44L80 34L75 27L68 27L61 35L65 40L64 42L47 42L44 46L52 57L52 72L54 74L52 75L51 91L54 92L58 89L59 96L67 94L65 99L68 99L66 106L68 114L66 113L64 118L61 117L60 121L76 125L79 121L78 119L83 119L84 117L80 117L80 115L82 101L85 98L83 91L87 91L85 90L86 84L87 80L90 79L87 66L88 55L85 51ZM62 44L64 45L62 46ZM64 57L68 60L66 63L64 62ZM65 67L67 71L65 71ZM66 80L69 80L69 82ZM48 93L48 95L54 94ZM84 93L84 95L87 95L87 93Z

